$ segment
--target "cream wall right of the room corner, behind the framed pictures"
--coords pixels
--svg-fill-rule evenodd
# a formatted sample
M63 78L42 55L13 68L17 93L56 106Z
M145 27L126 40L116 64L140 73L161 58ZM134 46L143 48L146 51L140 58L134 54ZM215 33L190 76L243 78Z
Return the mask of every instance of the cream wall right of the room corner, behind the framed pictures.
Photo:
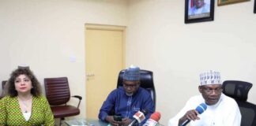
M209 69L222 80L254 83L248 101L256 104L254 1L215 6L214 21L197 24L184 24L184 2L130 0L128 6L126 64L154 72L161 123L199 95L199 73Z

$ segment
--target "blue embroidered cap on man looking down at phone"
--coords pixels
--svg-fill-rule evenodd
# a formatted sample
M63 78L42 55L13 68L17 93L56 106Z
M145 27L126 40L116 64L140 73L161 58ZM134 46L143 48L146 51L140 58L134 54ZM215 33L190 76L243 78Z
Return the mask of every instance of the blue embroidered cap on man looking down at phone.
M137 81L140 80L140 68L134 65L130 65L123 74L123 80Z

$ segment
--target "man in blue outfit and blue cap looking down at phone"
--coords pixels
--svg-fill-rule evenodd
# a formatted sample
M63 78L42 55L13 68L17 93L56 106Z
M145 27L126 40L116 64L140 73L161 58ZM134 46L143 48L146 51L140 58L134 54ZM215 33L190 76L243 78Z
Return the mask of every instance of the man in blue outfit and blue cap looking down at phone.
M114 120L111 111L114 109L115 115L120 115L122 121ZM138 111L146 109L147 120L155 110L155 105L151 95L144 88L140 87L140 68L130 66L123 76L123 86L111 91L106 101L100 108L99 119L107 121L112 125L128 125L133 120L133 116ZM145 120L141 124L145 123Z

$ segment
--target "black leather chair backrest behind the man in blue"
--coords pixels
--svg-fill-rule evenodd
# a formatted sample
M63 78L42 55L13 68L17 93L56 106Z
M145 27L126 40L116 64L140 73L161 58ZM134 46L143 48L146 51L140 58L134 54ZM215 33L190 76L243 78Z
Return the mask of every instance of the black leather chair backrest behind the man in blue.
M119 79L117 83L117 87L122 87L122 81L123 81L123 74L125 72L125 69L121 70L119 72ZM140 80L141 80L141 87L145 88L147 91L149 91L151 98L156 106L156 90L153 83L153 73L148 70L140 70Z

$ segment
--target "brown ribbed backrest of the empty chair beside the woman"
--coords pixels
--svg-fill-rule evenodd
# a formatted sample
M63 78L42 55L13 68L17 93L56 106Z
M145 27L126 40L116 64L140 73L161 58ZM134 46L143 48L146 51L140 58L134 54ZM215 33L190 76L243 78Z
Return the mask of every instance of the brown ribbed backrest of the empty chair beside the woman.
M51 106L66 104L70 101L70 87L67 77L45 78L44 87Z

